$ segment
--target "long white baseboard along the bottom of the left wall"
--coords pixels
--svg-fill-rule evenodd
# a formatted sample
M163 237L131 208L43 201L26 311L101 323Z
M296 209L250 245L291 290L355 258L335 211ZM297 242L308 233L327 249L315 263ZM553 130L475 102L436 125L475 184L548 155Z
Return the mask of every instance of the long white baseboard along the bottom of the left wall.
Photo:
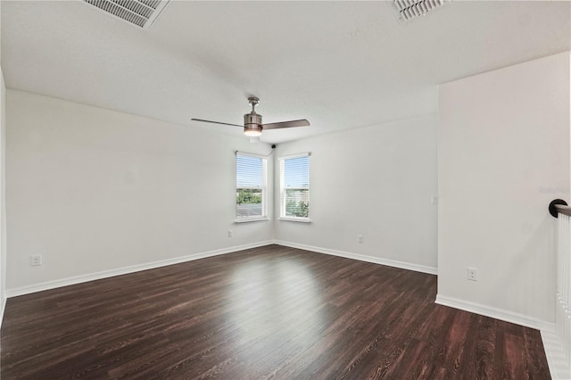
M172 264L178 264L181 262L192 261L192 260L205 259L207 257L218 256L220 254L226 254L226 253L230 253L230 252L247 250L250 248L261 247L261 246L269 245L269 244L274 244L274 242L272 240L268 240L268 241L264 241L264 242L253 243L253 244L235 245L232 247L222 248L222 249L215 250L215 251L194 253L194 254L190 254L187 256L181 256L181 257L177 257L177 258L173 258L173 259L158 260L158 261L153 261L153 262L147 262L145 264L131 265L129 267L124 267L124 268L103 270L101 272L90 273L87 275L67 277L67 278L62 278L62 279L54 280L54 281L46 281L44 283L39 283L39 284L34 284L34 285L29 285L29 286L22 286L22 287L14 288L14 289L7 289L6 290L6 297L8 297L8 298L17 297L19 295L42 292L45 290L55 289L57 287L68 286L68 285L76 285L76 284L85 283L87 281L94 281L94 280L99 280L99 279L107 278L107 277L127 275L129 273L134 273L134 272L138 272L141 270L166 267L166 266L172 265ZM5 302L5 299L4 299L4 302ZM4 312L4 309L2 311Z

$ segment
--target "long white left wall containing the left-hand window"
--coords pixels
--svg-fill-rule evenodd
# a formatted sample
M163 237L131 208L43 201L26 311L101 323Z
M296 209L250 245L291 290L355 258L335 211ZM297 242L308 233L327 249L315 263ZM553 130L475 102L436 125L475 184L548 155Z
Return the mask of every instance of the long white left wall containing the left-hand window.
M269 145L11 89L6 102L9 292L273 238L270 221L234 223L235 151Z

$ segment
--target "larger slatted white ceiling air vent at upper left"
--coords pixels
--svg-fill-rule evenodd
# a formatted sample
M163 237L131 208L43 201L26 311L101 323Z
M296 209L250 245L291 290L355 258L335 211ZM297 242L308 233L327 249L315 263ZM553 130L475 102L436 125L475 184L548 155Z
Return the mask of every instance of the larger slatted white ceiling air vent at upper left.
M84 0L103 12L149 29L170 0Z

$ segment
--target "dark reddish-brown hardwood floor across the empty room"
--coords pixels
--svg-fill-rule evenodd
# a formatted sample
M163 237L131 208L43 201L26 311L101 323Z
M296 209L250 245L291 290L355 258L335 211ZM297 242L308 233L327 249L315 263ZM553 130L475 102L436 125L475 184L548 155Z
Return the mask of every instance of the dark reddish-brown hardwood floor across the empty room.
M7 379L546 379L537 330L436 277L277 245L8 300Z

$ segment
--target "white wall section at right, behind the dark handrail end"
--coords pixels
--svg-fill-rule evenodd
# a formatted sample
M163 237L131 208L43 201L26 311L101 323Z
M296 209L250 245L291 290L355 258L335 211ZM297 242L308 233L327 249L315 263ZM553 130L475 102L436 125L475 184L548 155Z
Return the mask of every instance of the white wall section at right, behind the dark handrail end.
M547 207L569 201L569 54L456 80L439 98L438 301L553 321Z

